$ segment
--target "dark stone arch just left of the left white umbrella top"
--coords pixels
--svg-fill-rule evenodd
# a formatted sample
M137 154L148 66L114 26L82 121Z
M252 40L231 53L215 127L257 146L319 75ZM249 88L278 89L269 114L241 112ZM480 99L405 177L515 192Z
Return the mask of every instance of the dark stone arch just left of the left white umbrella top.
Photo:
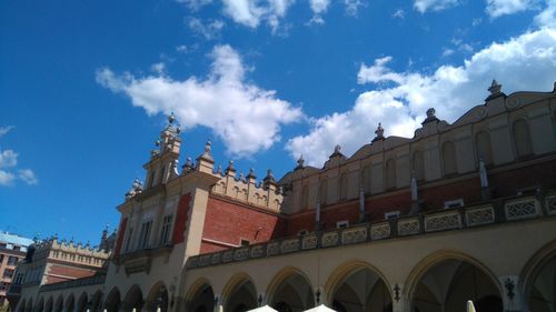
M244 312L257 308L258 296L255 283L248 274L235 274L222 290L224 311Z

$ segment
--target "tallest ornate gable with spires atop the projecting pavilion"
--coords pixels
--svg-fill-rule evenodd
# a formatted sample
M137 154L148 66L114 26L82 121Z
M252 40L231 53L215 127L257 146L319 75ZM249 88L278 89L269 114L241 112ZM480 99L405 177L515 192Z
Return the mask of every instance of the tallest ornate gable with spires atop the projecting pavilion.
M178 158L181 145L181 132L173 112L168 117L168 124L160 132L156 149L150 152L150 160L143 168L147 171L146 189L166 184L169 179L178 175Z

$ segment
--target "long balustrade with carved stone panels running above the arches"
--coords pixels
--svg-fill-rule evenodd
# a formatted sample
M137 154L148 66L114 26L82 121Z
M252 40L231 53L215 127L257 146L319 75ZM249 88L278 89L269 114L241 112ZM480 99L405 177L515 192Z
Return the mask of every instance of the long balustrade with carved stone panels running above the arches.
M547 214L544 218L554 218L552 215L556 215L556 194L545 197L544 205L547 210ZM374 241L396 236L465 230L475 227L489 227L495 223L508 221L543 218L540 207L540 202L534 197L525 197L508 200L499 210L496 210L493 204L481 204L447 209L376 223L356 224L345 229L314 232L301 236L286 238L267 243L191 256L187 262L187 268L195 269L302 252L306 250L373 243Z

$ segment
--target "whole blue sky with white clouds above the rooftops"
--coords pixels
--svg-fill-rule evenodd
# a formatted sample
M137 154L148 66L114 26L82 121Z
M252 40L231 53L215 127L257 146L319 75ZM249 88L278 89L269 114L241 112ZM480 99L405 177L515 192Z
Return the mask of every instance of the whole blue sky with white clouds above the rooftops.
M212 140L279 178L428 108L552 91L556 1L0 2L0 229L98 243L175 111L182 158Z

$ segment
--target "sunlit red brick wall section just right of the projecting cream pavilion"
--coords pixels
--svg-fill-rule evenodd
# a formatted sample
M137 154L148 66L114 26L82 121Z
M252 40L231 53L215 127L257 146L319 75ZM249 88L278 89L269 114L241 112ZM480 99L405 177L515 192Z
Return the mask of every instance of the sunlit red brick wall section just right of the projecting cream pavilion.
M220 198L210 197L202 230L201 251L208 253L228 249L226 244L211 243L206 240L238 245L241 239L252 243L269 241L280 235L277 213L255 207L234 203Z

